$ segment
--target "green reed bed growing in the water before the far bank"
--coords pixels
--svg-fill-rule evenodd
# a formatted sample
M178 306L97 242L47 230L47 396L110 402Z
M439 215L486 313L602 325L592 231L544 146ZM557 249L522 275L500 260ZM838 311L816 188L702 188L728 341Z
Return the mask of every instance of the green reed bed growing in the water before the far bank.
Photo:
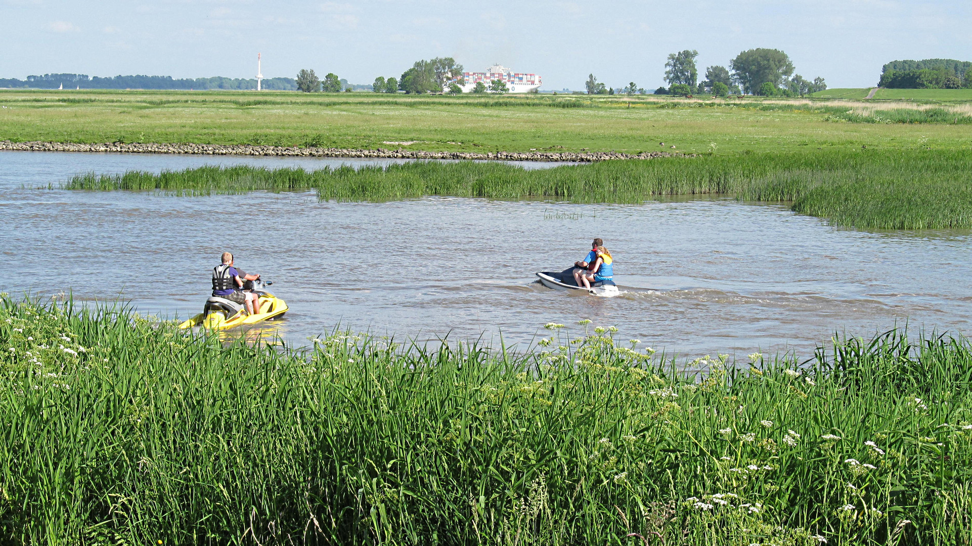
M920 144L920 143L919 143ZM703 154L526 170L488 162L418 161L265 169L201 167L160 174L79 175L61 188L177 194L316 190L321 199L389 201L426 195L642 203L657 195L727 194L790 202L834 225L868 229L972 227L972 152L817 151Z

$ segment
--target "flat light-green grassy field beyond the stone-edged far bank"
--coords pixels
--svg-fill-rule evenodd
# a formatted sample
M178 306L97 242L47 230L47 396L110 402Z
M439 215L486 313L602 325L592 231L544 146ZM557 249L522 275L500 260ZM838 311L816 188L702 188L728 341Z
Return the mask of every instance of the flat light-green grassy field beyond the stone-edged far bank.
M0 140L626 153L968 145L967 127L951 116L890 124L835 117L861 103L845 102L851 106L756 97L0 90Z

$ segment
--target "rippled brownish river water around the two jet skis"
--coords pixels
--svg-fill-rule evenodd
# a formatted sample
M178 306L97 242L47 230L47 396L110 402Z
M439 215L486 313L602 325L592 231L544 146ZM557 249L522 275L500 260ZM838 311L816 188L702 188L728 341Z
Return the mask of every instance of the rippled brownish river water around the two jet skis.
M367 164L388 163L371 160ZM334 328L525 349L548 322L616 325L684 357L814 348L895 324L968 332L969 231L835 228L785 206L707 197L575 205L429 197L320 202L314 192L174 197L31 189L76 173L201 164L314 168L328 158L0 152L3 287L12 295L123 298L188 318L220 253L274 281L286 318L246 332L293 345ZM524 164L543 168L546 164ZM540 270L581 259L598 236L623 294L548 290ZM238 335L242 335L241 332Z

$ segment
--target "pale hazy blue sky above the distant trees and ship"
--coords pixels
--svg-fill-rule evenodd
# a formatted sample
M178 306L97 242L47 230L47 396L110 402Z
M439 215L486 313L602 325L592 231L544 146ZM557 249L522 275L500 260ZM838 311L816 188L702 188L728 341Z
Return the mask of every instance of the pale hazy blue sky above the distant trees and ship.
M700 72L750 48L789 53L805 78L874 85L902 58L972 60L970 0L357 2L0 0L0 78L252 78L300 68L352 83L399 76L419 58L467 70L501 62L543 87L662 85L668 53L699 51Z

